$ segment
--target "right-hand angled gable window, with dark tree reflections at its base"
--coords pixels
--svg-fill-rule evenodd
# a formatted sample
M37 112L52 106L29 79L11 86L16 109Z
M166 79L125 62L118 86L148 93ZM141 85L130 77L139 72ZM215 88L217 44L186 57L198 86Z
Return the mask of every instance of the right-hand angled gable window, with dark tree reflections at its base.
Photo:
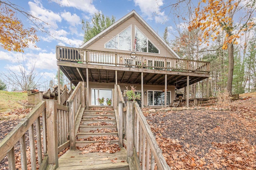
M135 51L159 53L159 49L135 26Z

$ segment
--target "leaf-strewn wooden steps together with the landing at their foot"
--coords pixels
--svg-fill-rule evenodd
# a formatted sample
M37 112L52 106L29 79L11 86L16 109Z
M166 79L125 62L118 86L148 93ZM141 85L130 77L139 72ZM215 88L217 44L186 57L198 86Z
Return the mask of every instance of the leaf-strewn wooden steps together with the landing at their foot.
M76 147L83 148L89 144L118 144L118 132L114 111L85 110L76 135ZM113 154L106 152L82 153L81 150L68 150L59 158L58 170L129 170L126 162L126 149Z

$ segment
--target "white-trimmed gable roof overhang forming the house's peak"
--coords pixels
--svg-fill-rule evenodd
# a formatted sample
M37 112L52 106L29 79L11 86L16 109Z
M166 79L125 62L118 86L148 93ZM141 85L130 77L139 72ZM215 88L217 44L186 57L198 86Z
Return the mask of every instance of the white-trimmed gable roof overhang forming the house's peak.
M146 23L145 20L143 20L143 18L135 11L132 10L131 12L129 12L128 14L126 14L126 16L122 17L121 19L119 19L117 22L115 22L114 24L112 24L111 26L109 26L108 28L106 28L105 30L103 30L102 32L100 32L99 34L97 34L95 37L93 37L92 39L88 40L86 43L82 44L79 48L83 48L86 49L88 46L92 45L94 42L96 42L98 39L104 37L108 32L114 30L114 28L116 28L117 26L119 26L120 24L122 24L123 22L125 22L126 20L128 20L129 18L131 18L132 16L134 16L153 36L154 38L156 38L156 40L158 40L160 43L162 43L162 45L176 58L180 57L178 56L178 54L169 46L167 45L167 43Z

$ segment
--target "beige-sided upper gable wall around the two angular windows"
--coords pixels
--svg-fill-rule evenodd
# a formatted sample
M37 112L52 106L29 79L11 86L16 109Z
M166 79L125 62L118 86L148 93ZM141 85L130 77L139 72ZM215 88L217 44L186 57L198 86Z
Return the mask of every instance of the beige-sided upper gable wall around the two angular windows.
M134 40L135 40L135 26L159 49L160 53L146 53L146 52L138 52L135 51L137 54L143 55L155 55L161 57L172 57L174 56L169 53L169 51L162 45L162 42L159 42L134 16L129 18L128 20L124 21L122 24L108 32L101 38L98 38L96 42L92 45L86 47L86 49L91 50L99 50L99 51L112 51L112 52L122 52L122 53L131 53L132 51L124 51L118 49L108 49L105 48L105 43L114 38L117 34L125 30L128 26L132 25L132 51L134 51Z

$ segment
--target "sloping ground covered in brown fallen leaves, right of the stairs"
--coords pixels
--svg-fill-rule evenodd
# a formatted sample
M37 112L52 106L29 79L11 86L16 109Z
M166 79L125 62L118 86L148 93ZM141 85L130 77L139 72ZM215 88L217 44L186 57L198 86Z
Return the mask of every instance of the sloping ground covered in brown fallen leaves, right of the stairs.
M144 115L171 169L256 169L256 98L229 107Z

